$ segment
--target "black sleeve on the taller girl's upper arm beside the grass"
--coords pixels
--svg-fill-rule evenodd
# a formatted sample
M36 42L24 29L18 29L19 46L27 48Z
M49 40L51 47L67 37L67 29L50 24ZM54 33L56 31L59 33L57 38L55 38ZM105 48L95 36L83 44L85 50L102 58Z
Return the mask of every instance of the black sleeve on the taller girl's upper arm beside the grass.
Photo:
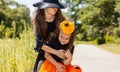
M37 52L41 52L42 51L41 47L42 47L42 45L44 43L44 40L43 40L42 36L36 34L35 35L35 40L36 40L36 47L34 49Z

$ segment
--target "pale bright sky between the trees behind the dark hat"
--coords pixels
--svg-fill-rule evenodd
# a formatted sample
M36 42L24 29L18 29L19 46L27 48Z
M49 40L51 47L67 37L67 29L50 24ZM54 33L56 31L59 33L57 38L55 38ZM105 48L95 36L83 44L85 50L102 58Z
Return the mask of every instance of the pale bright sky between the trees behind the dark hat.
M39 2L40 0L14 0L20 4L26 5L30 9L30 16L32 17L33 12L35 11L35 7L33 7L33 4L36 2ZM62 9L62 11L66 12L67 9Z

